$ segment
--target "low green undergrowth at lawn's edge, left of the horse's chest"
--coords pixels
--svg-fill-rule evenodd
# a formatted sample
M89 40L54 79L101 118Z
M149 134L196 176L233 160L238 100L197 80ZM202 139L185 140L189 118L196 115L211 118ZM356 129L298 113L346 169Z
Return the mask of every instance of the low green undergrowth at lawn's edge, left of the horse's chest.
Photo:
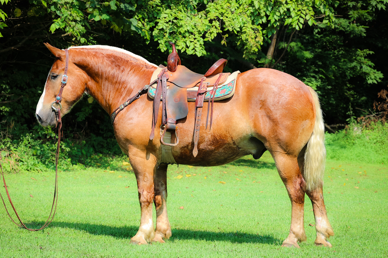
M38 126L32 133L17 132L17 137L10 136L8 132L1 132L0 137L1 165L4 171L39 172L54 168L57 142L50 128ZM74 165L111 169L111 161L115 157L125 159L115 139L96 137L94 134L89 137L63 138L59 157L60 167L65 170L72 169Z

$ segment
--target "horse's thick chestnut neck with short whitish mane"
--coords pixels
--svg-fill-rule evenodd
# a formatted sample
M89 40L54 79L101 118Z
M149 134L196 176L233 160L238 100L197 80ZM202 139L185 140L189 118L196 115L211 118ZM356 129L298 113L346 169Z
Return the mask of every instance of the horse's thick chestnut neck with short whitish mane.
M109 114L149 83L157 66L115 48L85 50L82 69L90 77L86 91Z

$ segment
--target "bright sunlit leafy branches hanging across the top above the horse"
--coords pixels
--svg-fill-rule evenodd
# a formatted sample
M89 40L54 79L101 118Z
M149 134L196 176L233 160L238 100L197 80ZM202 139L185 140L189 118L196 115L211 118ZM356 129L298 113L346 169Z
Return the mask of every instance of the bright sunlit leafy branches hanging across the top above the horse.
M230 39L245 58L256 58L263 38L281 25L300 30L304 23L316 24L315 15L324 15L328 25L334 19L332 0L29 0L27 8L21 2L13 1L7 13L39 20L45 32L47 26L51 33L62 30L75 44L96 43L96 30L102 27L136 31L147 42L158 41L162 51L174 41L181 51L197 56L206 55L204 42L220 34L221 44ZM0 16L4 21L5 15Z

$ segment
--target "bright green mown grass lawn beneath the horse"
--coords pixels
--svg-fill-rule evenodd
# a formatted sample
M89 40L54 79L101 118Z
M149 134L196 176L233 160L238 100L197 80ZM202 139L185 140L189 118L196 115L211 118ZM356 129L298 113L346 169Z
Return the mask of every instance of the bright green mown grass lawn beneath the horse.
M129 244L140 208L135 177L125 168L60 172L57 214L38 232L16 227L0 208L0 257L388 257L387 165L328 160L323 190L333 248L314 246L306 196L307 242L300 249L281 247L291 203L268 152L220 167L170 165L173 235L164 244ZM37 228L50 210L54 172L7 174L6 180L19 214Z

